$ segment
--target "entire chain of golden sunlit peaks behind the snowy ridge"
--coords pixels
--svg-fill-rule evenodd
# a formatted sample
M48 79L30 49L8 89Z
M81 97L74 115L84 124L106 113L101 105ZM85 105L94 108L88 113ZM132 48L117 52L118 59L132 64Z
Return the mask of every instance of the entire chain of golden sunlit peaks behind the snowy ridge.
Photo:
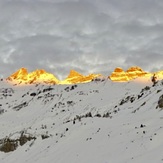
M133 66L128 70L124 71L122 68L115 68L114 72L111 73L109 79L115 82L126 82L138 77L148 78L154 73L146 72L140 67ZM163 79L163 71L155 72L157 79ZM97 79L97 80L96 80ZM99 79L99 80L98 80ZM76 83L86 83L90 81L102 81L101 79L106 79L101 74L89 74L84 76L75 70L71 70L67 78L63 81L59 81L53 74L47 73L45 70L36 70L28 73L26 68L21 68L11 76L7 78L7 81L14 84L76 84Z

